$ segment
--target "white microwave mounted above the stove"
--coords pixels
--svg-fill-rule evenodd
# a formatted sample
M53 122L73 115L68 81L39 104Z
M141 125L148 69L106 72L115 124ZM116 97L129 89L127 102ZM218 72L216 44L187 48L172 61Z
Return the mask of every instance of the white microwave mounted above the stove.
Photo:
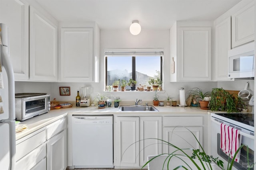
M254 42L228 51L228 78L254 78Z

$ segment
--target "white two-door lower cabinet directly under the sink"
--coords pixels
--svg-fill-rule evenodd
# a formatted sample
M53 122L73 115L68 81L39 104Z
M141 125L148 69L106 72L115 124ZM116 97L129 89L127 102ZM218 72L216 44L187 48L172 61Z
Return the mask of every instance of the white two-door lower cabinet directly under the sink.
M156 140L162 138L161 116L116 117L114 135L115 168L138 168L148 155L162 153L162 142Z

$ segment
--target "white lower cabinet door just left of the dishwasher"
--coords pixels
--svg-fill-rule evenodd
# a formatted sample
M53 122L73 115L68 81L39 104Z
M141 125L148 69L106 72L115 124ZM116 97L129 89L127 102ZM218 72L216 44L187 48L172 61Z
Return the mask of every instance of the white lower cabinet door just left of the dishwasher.
M47 141L47 170L65 170L67 158L66 130Z

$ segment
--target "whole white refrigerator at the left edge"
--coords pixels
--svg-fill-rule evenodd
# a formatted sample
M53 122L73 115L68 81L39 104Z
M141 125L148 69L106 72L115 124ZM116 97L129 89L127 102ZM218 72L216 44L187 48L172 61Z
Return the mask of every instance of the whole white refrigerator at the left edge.
M14 72L9 58L8 27L0 23L0 169L15 169Z

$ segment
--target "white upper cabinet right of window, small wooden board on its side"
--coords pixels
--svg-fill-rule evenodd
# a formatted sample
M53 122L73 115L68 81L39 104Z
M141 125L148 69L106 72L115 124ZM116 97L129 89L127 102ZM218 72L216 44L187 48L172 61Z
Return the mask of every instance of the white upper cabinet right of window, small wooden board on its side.
M211 80L210 22L177 21L170 29L170 81Z

